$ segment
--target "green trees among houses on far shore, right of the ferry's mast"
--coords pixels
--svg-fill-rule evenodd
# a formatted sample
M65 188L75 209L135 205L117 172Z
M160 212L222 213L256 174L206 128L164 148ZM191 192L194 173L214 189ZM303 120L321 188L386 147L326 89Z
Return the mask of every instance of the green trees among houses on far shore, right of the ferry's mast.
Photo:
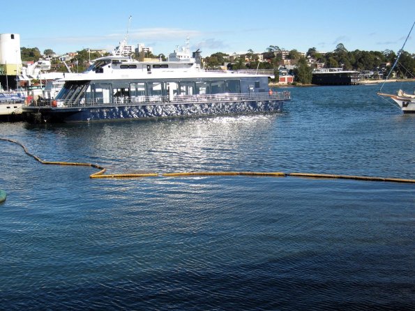
M276 45L270 45L266 52L262 53L264 60L259 61L259 54L254 54L248 50L246 54L235 57L232 55L217 52L204 58L205 68L217 69L227 64L228 69L274 69L278 73L280 66L284 67L284 58L289 59L290 63L296 65L293 70L296 82L310 84L312 70L317 64L324 65L325 68L343 68L344 70L370 70L376 73L388 73L392 64L395 62L397 54L392 50L377 51L348 51L340 43L333 52L317 52L315 47L310 47L305 56L297 50L284 50ZM284 57L285 56L285 57ZM402 51L398 65L394 68L396 77L415 76L415 54Z

